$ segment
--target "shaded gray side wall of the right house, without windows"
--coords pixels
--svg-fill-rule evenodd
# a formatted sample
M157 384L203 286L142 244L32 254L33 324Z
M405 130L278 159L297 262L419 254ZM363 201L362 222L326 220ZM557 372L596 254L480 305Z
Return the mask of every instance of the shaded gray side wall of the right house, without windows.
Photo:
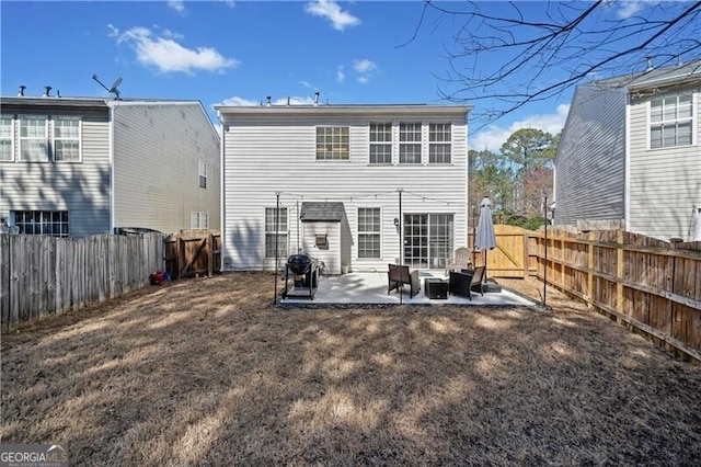
M624 89L575 91L555 158L555 224L623 218L625 104Z

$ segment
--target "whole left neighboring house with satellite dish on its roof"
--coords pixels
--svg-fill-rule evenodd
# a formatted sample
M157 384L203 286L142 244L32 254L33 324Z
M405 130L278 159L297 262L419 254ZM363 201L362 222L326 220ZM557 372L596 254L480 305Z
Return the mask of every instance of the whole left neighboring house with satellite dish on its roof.
M220 138L198 101L0 101L0 217L20 234L219 228Z

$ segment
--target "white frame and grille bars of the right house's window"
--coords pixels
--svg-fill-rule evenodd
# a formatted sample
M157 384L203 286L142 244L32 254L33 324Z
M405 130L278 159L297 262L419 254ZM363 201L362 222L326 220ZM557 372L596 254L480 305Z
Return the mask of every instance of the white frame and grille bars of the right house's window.
M693 91L682 91L677 93L669 93L655 96L648 102L648 138L647 145L650 149L667 149L691 146L696 144L696 113L693 112L696 105L696 93ZM689 96L689 101L680 104L679 99L681 96ZM674 101L674 102L670 102ZM660 105L655 105L655 102L659 102ZM679 115L680 111L687 110L685 115ZM674 115L670 115L674 113ZM688 141L679 143L679 127L680 125L689 126ZM659 132L659 138L654 138L656 132ZM666 132L674 133L674 143L666 144L668 138L665 138ZM655 141L658 144L655 144Z

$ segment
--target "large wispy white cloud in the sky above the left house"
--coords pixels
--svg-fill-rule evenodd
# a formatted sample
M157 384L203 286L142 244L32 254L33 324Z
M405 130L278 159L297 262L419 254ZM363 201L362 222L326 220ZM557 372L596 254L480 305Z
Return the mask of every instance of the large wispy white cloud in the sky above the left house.
M221 71L240 64L237 59L223 57L212 47L186 48L175 41L182 36L170 31L157 35L147 27L131 27L124 33L113 25L108 27L112 30L110 35L117 38L117 44L134 48L140 64L153 66L162 72Z

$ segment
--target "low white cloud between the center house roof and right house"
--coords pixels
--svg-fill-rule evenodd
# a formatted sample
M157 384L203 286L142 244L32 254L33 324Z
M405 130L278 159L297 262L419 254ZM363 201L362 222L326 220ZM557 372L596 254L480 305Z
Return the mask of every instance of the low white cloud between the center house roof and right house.
M502 145L506 143L509 136L521 128L538 128L552 135L556 135L565 126L567 112L570 112L570 104L560 104L558 105L556 111L552 114L529 115L524 119L514 122L506 128L497 125L490 125L475 135L470 135L470 149L478 151L489 149L496 152L499 150Z

